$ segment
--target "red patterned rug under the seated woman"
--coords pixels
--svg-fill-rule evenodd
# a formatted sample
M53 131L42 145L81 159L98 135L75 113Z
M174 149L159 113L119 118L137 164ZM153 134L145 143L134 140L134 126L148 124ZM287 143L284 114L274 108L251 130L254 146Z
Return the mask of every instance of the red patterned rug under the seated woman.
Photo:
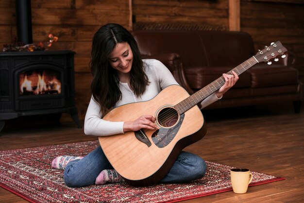
M229 177L232 167L212 162L207 162L206 175L200 180L148 187L119 183L70 188L63 181L63 170L51 168L55 156L84 156L98 145L98 141L89 141L0 152L0 186L34 203L172 203L232 190ZM284 180L252 173L250 186Z

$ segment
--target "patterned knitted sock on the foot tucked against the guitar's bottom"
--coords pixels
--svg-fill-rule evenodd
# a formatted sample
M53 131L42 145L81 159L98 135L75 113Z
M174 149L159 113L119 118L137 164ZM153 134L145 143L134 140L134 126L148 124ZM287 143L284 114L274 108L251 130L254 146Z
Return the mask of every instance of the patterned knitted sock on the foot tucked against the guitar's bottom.
M123 178L114 169L105 169L97 176L95 185L104 185L106 183L124 182Z

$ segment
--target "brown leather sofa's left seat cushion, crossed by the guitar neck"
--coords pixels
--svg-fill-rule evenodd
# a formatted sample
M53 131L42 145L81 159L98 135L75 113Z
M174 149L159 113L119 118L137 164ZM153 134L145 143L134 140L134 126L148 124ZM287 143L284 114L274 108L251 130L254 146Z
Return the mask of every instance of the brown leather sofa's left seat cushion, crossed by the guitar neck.
M227 73L233 68L234 67L184 67L184 71L190 87L198 90L215 81L222 76L223 73ZM251 74L244 72L240 75L234 88L250 86Z

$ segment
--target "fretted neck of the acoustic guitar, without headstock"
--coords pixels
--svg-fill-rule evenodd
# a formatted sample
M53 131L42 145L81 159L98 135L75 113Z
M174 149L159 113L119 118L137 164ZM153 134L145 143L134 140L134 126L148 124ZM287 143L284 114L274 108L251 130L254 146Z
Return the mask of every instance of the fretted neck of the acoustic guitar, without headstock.
M248 70L249 68L253 67L257 63L258 63L258 61L253 56L250 59L248 59L247 61L238 65L236 68L233 68L226 74L232 75L232 71L235 71L237 75L240 75L243 72L245 72L246 70ZM199 91L195 92L194 94L192 94L185 100L176 104L174 106L174 108L177 110L178 114L181 115L184 112L186 112L187 110L189 110L190 108L192 108L193 106L195 106L196 104L198 104L199 102L206 99L208 96L213 94L215 91L220 89L220 87L223 86L224 84L225 84L225 79L223 76L221 76L220 78L216 79L209 85L206 85L205 87L203 87Z

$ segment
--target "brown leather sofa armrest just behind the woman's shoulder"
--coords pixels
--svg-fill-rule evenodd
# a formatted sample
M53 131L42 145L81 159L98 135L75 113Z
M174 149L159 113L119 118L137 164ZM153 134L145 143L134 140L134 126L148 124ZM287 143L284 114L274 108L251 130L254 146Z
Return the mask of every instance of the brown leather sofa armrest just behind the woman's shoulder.
M172 73L176 82L186 89L189 94L193 94L193 90L186 81L182 61L177 53L163 53L155 55L142 55L144 59L156 59L162 62Z

